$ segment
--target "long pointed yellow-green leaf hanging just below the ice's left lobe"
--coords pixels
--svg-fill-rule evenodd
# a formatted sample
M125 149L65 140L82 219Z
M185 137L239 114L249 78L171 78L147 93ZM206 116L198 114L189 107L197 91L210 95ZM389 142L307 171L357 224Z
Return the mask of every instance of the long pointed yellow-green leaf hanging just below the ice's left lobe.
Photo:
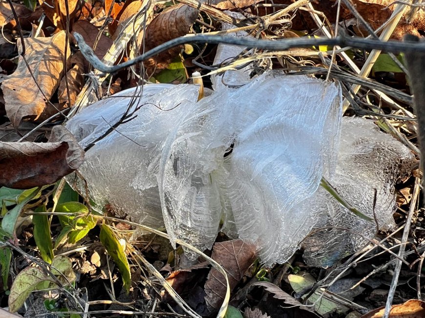
M100 242L105 246L106 251L112 260L117 264L118 269L123 277L124 288L128 292L131 286L130 265L128 264L127 255L124 252L114 232L109 225L103 224L99 235Z

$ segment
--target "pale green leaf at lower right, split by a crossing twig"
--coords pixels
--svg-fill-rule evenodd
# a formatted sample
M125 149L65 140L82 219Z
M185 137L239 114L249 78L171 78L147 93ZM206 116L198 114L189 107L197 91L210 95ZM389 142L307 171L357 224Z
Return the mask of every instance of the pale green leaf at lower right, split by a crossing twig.
M307 272L299 273L298 275L290 274L288 276L289 283L294 291L300 292L301 290L313 286L316 280L311 276L311 274ZM330 301L324 297L320 298L321 293L319 291L315 291L312 296L308 299L308 301L315 303L316 312L323 316L326 313L334 311L339 308L343 308L339 304ZM316 302L317 301L317 302Z

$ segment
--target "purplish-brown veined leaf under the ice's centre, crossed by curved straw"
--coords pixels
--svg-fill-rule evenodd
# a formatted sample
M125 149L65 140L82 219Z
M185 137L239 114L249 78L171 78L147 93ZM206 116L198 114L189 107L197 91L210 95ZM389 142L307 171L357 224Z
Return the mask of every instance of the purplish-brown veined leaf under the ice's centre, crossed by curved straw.
M212 259L224 268L229 279L230 289L233 290L254 261L255 247L242 240L215 243ZM226 281L215 268L212 268L208 274L205 293L205 301L209 310L218 310L226 295Z

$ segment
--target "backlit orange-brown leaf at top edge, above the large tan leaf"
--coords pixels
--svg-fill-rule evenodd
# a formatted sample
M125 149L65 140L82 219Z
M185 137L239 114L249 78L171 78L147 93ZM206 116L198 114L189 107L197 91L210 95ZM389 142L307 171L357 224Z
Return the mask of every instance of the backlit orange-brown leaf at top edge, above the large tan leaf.
M77 13L79 0L39 0L46 17L60 30L66 30L66 3L69 12L69 29Z

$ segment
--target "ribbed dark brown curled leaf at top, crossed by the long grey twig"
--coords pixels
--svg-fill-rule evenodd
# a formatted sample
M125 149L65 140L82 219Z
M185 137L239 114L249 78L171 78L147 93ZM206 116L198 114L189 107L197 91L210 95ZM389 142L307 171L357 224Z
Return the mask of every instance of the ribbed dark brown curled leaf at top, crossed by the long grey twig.
M161 12L146 28L145 48L141 47L140 50L146 52L173 38L187 35L198 14L199 10L183 3L174 5ZM167 68L170 61L181 50L182 46L177 46L150 58L144 63L145 67L147 67L147 74L151 75L153 69L160 71Z

